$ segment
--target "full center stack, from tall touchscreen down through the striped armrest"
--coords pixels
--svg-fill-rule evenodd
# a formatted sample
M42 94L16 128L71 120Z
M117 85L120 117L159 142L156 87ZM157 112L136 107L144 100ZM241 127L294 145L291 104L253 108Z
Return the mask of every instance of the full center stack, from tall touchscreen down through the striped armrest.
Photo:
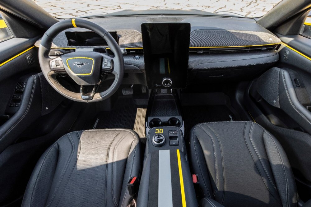
M137 206L197 206L178 88L187 85L190 24L144 23L146 150Z

